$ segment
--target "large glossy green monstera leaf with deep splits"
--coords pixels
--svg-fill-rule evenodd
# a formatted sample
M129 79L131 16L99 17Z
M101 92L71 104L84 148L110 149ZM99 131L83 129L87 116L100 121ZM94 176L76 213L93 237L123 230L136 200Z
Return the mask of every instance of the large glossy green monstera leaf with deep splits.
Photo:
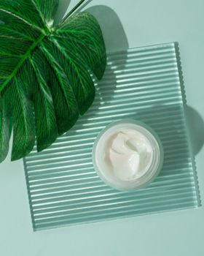
M42 151L93 102L106 67L97 20L72 13L53 26L58 0L0 0L0 162Z

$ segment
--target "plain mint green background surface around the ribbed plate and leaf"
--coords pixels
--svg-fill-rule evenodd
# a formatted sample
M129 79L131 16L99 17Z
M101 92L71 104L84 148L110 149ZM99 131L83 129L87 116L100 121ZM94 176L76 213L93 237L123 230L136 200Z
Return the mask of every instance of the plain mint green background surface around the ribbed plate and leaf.
M68 2L61 1L59 15ZM76 2L72 0L71 6ZM95 5L106 8L90 8ZM127 42L129 47L179 42L203 199L204 1L93 0L86 8L98 16L108 50L127 48ZM0 255L204 255L203 207L34 233L23 162L10 162L9 158L10 154L0 165Z

